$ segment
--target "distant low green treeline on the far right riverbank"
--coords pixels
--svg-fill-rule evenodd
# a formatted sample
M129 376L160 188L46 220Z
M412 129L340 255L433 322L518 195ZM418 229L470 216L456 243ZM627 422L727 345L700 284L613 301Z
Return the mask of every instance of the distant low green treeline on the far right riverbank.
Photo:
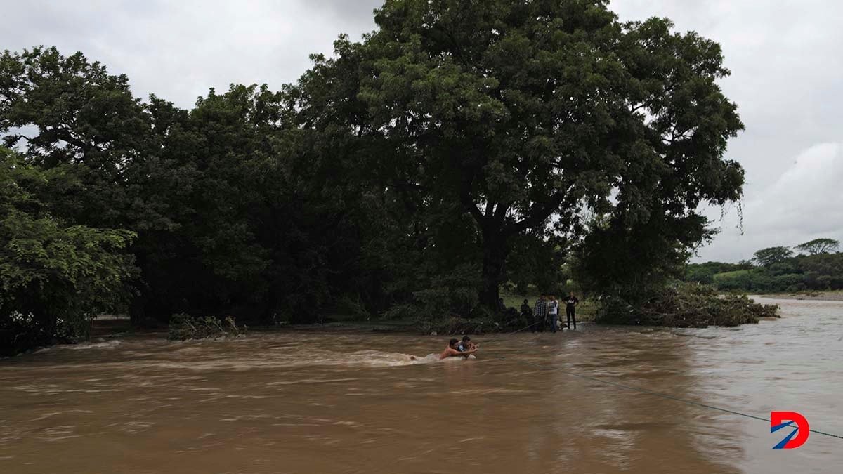
M833 239L817 239L791 248L758 250L752 261L690 264L685 280L709 283L724 291L752 293L843 289L843 252Z

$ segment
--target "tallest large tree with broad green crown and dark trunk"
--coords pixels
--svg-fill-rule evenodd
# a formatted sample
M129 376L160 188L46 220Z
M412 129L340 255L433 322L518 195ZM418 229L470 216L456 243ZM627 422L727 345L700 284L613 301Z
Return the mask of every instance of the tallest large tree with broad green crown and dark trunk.
M698 242L698 205L740 195L743 170L722 157L743 126L711 40L621 23L600 0L387 0L375 21L316 57L301 127L329 131L384 189L468 219L487 306L514 239L550 220L571 232L611 213L620 232L655 215Z

